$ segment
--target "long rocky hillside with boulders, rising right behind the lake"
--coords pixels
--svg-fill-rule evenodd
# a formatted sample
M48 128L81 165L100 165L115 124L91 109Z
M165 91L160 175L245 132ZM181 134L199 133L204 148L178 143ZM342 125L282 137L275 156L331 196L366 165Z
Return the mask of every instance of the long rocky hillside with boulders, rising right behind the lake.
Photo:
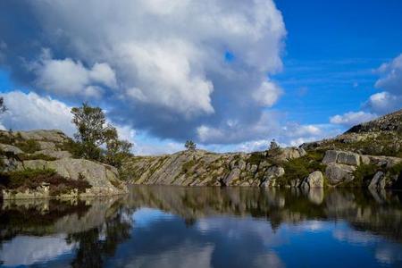
M401 125L398 111L301 147L136 156L125 163L125 170L133 184L402 188Z

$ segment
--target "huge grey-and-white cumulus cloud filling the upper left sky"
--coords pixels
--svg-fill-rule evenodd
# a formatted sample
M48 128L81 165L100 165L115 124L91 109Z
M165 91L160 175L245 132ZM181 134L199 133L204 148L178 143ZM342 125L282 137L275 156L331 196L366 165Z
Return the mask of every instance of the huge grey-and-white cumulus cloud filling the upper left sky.
M227 121L249 128L281 96L268 78L286 36L272 0L23 0L1 3L0 16L0 64L13 78L106 104L113 121L158 138L227 131ZM248 133L242 141L259 136Z

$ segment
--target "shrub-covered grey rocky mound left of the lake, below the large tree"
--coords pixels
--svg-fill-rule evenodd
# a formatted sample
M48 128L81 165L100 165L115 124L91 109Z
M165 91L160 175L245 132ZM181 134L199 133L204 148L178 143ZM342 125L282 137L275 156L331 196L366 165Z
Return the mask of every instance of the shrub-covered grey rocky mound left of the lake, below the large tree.
M4 199L127 192L114 167L74 159L70 142L60 130L0 130L0 188Z

